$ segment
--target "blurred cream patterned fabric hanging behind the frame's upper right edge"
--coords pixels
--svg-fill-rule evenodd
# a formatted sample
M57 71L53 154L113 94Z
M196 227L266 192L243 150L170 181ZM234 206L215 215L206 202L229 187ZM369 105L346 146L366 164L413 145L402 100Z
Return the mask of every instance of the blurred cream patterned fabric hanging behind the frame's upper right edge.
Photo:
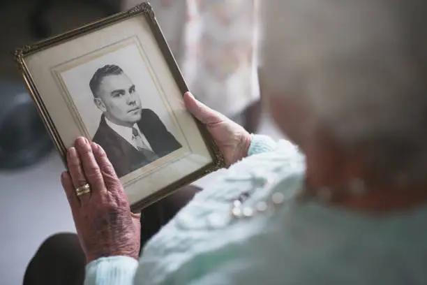
M256 1L150 1L193 94L230 117L260 97Z

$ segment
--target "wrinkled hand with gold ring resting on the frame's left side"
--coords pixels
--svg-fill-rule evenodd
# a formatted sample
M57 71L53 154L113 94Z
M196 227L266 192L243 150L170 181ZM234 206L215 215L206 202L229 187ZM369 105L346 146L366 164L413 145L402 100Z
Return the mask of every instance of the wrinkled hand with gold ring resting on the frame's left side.
M68 172L61 182L66 191L77 234L87 262L105 256L138 258L140 217L130 212L112 164L104 150L86 138L77 138L67 152ZM76 189L89 184L90 192L77 196Z

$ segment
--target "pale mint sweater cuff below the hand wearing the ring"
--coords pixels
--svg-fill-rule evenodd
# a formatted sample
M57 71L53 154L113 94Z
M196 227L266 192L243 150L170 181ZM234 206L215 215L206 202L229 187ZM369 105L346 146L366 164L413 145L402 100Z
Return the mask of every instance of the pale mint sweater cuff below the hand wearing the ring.
M86 266L84 285L131 285L138 264L128 256L98 258Z

